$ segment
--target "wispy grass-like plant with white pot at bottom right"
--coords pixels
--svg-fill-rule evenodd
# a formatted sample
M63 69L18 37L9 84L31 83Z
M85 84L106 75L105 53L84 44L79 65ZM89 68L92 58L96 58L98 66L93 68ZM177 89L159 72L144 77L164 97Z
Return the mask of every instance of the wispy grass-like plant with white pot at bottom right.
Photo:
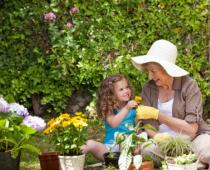
M165 157L165 164L168 170L197 169L197 157L191 151L190 141L183 136L168 136L165 139L167 140L159 139L156 141L161 154Z

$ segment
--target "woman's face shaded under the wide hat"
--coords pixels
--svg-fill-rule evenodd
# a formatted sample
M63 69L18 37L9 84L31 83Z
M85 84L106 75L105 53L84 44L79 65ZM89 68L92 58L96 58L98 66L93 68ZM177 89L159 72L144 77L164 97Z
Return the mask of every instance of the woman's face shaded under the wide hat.
M147 64L146 70L150 80L153 80L159 87L168 86L173 79L161 67Z

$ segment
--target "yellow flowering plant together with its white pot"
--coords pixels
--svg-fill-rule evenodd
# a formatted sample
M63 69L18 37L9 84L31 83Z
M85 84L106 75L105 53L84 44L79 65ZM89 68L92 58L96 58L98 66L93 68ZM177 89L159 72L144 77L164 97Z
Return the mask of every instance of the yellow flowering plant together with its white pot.
M87 140L87 118L82 112L74 115L61 114L47 123L44 134L59 153L59 162L62 170L82 170L85 155L81 154L80 147Z

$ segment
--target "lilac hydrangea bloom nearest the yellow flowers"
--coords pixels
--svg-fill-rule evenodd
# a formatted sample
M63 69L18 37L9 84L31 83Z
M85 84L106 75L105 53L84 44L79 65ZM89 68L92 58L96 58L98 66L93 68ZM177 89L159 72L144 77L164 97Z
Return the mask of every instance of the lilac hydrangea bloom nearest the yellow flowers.
M23 120L23 124L28 126L28 127L33 128L37 131L42 131L46 126L45 121L38 116L27 116L27 117L25 117L24 120Z

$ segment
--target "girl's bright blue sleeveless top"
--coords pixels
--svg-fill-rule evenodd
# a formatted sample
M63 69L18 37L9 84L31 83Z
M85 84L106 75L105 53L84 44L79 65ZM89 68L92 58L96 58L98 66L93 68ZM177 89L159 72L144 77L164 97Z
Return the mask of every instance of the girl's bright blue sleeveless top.
M114 113L118 114L118 112ZM136 110L131 109L124 120L119 124L119 126L112 128L106 121L105 121L105 144L113 144L114 143L114 134L115 132L125 132L125 134L130 134L132 131L126 128L126 124L135 125L135 117L136 117Z

